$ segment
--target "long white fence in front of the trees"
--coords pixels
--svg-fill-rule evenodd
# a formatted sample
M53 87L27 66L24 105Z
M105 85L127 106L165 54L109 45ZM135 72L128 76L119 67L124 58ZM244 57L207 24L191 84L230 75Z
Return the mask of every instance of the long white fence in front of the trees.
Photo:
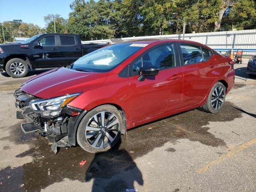
M140 37L126 37L122 38L124 41L128 40L143 40L150 38L166 38L166 39L182 39L182 34L173 35L156 35L156 36L140 36ZM191 40L200 42L213 48L221 53L226 50L243 49L244 55L256 54L256 29L253 30L238 30L238 31L222 31L222 32L209 32L209 33L190 33L185 34L184 40ZM106 43L108 39L82 41L82 43Z

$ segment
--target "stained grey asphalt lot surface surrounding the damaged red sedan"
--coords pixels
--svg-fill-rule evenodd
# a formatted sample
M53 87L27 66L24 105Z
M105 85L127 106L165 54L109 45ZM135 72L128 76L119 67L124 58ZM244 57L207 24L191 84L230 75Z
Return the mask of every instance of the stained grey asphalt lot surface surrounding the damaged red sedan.
M133 128L101 154L79 146L54 154L46 138L24 134L12 93L42 71L0 74L0 191L256 191L256 78L245 63L235 68L221 112L197 108Z

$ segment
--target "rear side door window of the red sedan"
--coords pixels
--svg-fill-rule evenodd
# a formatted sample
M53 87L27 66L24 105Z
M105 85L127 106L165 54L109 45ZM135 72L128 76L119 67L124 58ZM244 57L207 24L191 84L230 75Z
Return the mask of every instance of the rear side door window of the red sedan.
M198 63L204 60L200 46L181 44L180 48L184 65Z

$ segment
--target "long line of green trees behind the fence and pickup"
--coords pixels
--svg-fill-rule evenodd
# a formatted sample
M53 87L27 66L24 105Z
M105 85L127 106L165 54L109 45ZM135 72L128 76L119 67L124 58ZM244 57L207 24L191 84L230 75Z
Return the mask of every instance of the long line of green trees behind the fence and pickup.
M44 17L46 32L79 34L82 40L256 28L255 0L74 0L68 20ZM4 22L6 41L44 29L22 20ZM3 42L0 26L0 43Z

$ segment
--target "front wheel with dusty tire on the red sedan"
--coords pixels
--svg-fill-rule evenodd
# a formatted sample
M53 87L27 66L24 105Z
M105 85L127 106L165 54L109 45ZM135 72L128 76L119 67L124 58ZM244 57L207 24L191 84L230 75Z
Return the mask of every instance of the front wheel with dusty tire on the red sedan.
M77 142L86 151L98 153L109 150L120 139L122 115L112 105L102 105L88 112L77 130Z

